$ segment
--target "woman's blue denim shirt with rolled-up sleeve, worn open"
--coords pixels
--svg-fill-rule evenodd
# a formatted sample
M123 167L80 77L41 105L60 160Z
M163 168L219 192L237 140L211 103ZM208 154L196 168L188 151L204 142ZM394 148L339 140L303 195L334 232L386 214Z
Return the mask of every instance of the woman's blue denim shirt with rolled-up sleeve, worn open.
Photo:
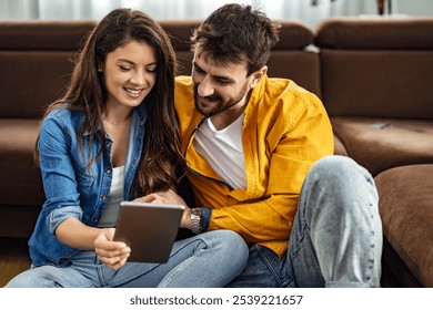
M124 200L134 198L130 192L143 147L145 118L147 110L141 104L132 114ZM54 235L56 228L69 217L95 227L105 209L112 179L110 158L113 142L105 135L102 154L88 168L89 133L83 136L83 153L78 142L83 121L83 113L59 107L42 122L38 148L47 200L29 240L33 266L68 266L70 258L80 250L61 244ZM92 142L92 158L100 145L99 140Z

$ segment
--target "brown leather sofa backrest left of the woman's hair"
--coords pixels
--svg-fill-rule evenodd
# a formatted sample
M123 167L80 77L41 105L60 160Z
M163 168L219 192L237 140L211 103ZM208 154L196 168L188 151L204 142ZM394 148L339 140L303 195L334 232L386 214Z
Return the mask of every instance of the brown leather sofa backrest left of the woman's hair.
M0 115L40 117L64 93L77 52L94 21L0 22Z

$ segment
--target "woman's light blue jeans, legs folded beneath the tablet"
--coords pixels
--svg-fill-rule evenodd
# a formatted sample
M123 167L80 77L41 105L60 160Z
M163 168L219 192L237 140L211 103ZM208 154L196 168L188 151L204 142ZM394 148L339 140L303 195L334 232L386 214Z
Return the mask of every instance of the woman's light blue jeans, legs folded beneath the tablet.
M34 267L7 287L224 287L246 260L243 239L233 231L216 230L174 242L167 264L127 262L113 270L94 251L81 251L69 267Z

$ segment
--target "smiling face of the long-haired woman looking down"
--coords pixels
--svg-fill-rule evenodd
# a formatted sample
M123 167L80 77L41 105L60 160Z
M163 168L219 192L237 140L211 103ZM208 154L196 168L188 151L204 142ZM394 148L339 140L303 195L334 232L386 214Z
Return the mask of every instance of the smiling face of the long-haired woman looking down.
M138 106L155 84L157 65L154 49L144 42L131 41L109 53L103 69L107 105Z

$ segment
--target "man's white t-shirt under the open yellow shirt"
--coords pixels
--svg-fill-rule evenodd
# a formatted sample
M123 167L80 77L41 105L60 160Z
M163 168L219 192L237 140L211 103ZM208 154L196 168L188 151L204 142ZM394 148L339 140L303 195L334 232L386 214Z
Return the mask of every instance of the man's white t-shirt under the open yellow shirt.
M218 131L207 118L195 133L193 146L219 177L233 189L246 188L245 159L242 146L244 113Z

